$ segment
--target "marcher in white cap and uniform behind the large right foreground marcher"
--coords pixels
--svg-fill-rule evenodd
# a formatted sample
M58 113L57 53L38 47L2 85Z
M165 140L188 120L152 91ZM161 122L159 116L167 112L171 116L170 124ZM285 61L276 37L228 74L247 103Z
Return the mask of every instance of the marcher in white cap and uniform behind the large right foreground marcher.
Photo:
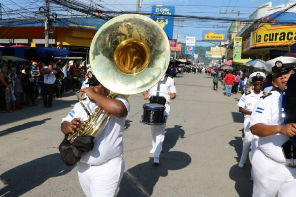
M237 106L239 106L239 112L244 114L244 141L242 145L242 156L238 164L239 168L243 168L244 163L247 161L252 141L252 153L256 148L258 138L257 136L254 138L254 135L250 131L250 119L255 104L260 97L263 96L261 88L265 78L266 75L263 72L252 73L250 75L250 80L252 80L252 83L254 84L254 89L244 93L237 104ZM252 155L253 154L251 154L251 156Z

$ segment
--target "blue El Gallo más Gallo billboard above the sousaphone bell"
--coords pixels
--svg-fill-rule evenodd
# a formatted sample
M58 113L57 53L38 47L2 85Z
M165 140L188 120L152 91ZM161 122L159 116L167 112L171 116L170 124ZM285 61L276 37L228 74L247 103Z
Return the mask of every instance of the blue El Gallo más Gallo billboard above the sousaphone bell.
M152 6L151 19L154 20L163 30L169 39L173 38L174 30L174 17L170 15L175 14L175 7L173 6ZM157 16L157 14L162 14L166 16Z

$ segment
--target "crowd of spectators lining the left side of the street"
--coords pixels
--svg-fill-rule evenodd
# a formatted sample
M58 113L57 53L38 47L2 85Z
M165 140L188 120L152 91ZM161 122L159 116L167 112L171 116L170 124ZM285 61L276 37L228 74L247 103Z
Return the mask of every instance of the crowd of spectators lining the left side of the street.
M54 98L62 97L70 89L81 88L88 66L73 61L49 64L31 61L30 65L24 65L9 60L0 66L1 112L36 106L36 99L41 96L44 107L52 107Z

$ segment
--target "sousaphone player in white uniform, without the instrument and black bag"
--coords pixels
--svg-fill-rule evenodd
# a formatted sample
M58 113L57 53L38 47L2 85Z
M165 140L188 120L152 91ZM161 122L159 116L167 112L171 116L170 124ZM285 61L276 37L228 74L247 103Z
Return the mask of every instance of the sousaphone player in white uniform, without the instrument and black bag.
M94 148L83 152L77 163L80 185L86 196L116 196L124 173L123 129L130 111L128 100L123 96L115 99L106 95L105 88L94 75L88 80L88 88L81 89L88 99L82 101L90 113L101 106L110 116L102 130L94 138ZM80 121L88 115L80 103L62 120L64 134L73 133Z

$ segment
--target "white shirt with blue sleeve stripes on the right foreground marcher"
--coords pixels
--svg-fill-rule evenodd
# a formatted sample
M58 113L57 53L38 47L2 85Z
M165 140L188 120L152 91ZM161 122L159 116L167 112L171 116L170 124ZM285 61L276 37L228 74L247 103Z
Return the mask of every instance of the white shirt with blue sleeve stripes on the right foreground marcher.
M266 125L284 125L281 117L281 101L283 95L278 91L270 91L271 95L261 98L255 105L250 121L250 127L257 123ZM287 135L277 133L267 137L259 137L260 150L268 157L278 162L288 162L290 159L284 157L281 146L289 140Z

